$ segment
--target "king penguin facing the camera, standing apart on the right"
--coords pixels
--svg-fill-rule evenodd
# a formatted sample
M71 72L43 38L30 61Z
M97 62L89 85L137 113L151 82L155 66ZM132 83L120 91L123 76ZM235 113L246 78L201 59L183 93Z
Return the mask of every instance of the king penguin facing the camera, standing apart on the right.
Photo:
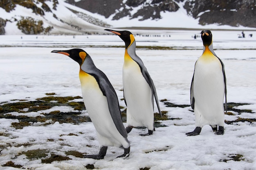
M216 135L224 134L224 107L227 112L227 86L224 64L213 51L212 34L201 32L203 54L195 62L191 82L190 100L195 114L195 130L188 136L199 135L204 125L209 124ZM219 127L219 128L218 128Z

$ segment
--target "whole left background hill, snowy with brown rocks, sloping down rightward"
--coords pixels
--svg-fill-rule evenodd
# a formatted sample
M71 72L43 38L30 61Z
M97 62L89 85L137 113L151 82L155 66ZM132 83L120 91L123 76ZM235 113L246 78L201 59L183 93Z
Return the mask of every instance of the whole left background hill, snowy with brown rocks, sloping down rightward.
M62 0L1 0L0 13L0 35L91 34L110 26Z

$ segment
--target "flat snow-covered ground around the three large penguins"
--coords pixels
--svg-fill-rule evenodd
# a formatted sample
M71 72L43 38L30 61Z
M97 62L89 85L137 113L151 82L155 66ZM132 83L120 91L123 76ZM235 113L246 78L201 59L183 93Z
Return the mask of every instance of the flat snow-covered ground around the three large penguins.
M134 31L143 33L145 31ZM190 104L190 83L195 61L202 54L202 40L193 39L200 31L159 31L161 37L137 35L137 46L173 47L175 50L137 49L144 61L158 93L158 99L178 105ZM246 38L238 38L240 31L212 31L213 48L225 64L228 102L249 103L237 109L251 109L253 113L234 112L225 115L225 120L256 118L256 31L245 31ZM253 34L249 37L248 34ZM166 36L168 35L168 36ZM171 37L169 36L171 35ZM56 96L81 96L78 77L79 65L69 57L50 53L52 50L83 48L90 54L95 65L109 78L116 89L120 105L125 106L122 89L122 65L124 42L116 35L88 36L0 36L0 103L18 100L35 100L45 93ZM0 105L2 105L0 104ZM255 170L256 169L256 124L238 122L225 124L224 135L214 135L210 126L204 126L198 136L187 137L186 132L195 127L191 107L166 107L160 102L162 111L168 111L170 118L166 127L156 128L153 135L139 136L143 130L133 129L128 134L131 144L128 159L115 159L123 149L109 147L103 160L78 158L69 155L70 160L41 163L41 159L29 160L18 155L27 150L47 149L50 153L65 156L66 151L96 154L99 151L95 129L92 123L60 124L47 126L34 123L23 129L11 126L15 119L0 119L0 165L8 161L36 170L79 170L87 164L96 169L138 170ZM72 108L56 108L62 112ZM52 110L50 110L52 111ZM50 112L48 111L48 112ZM46 113L47 111L45 111ZM10 114L16 115L16 112ZM23 113L38 116L40 113ZM86 114L86 113L85 113ZM42 115L41 115L42 116ZM124 123L125 125L125 123ZM74 133L76 135L68 135ZM49 140L51 139L51 140ZM87 147L92 146L92 147ZM240 161L229 160L232 155L243 155ZM221 161L222 160L222 161ZM1 168L1 167L0 167ZM16 169L2 167L2 169Z

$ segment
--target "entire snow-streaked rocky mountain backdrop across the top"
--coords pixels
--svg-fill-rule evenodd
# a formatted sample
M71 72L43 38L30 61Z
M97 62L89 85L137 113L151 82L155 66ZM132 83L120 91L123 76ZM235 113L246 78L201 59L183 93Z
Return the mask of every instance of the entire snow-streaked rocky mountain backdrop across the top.
M90 34L119 23L193 28L188 21L256 28L255 8L255 0L1 0L0 35Z

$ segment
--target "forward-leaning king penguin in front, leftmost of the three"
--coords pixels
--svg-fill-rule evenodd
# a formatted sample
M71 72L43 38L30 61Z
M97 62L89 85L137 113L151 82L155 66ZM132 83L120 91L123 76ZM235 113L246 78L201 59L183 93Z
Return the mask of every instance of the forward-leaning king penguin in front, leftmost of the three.
M96 129L100 148L98 155L86 155L85 158L103 159L108 146L124 148L124 154L119 157L128 157L130 143L121 119L117 94L107 76L96 68L90 55L82 49L52 52L65 54L80 65L83 101Z

